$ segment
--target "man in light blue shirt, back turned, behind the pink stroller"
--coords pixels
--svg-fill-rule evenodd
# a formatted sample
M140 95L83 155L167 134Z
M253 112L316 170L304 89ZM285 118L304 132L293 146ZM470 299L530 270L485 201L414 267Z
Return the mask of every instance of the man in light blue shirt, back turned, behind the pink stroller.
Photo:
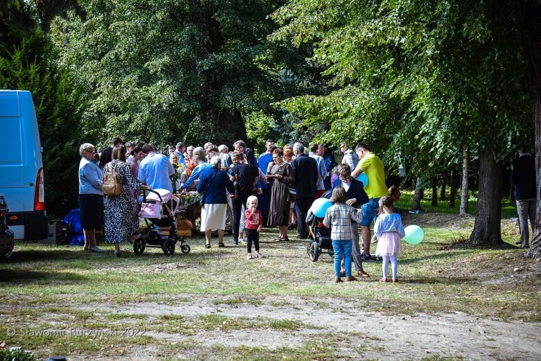
M152 189L167 189L172 193L172 183L169 176L175 173L175 169L172 168L169 158L157 154L152 144L145 144L142 150L145 153L145 158L139 164L139 180Z

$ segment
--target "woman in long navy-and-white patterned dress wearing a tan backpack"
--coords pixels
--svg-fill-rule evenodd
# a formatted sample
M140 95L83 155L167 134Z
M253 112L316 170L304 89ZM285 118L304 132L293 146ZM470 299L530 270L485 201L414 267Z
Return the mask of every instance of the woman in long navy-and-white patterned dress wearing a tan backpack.
M114 255L121 256L120 243L125 240L134 240L138 236L139 215L137 203L132 191L148 189L134 178L130 166L126 164L126 150L124 147L115 147L112 152L112 161L103 167L103 173L109 167L115 169L121 177L122 193L118 197L105 196L105 242L114 243Z

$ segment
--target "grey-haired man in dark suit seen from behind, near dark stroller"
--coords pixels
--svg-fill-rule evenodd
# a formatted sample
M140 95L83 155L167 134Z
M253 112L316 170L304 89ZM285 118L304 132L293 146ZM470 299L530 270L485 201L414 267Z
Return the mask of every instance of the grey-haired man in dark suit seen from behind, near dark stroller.
M294 143L293 154L295 159L291 161L291 168L295 175L295 216L299 236L305 240L308 238L308 227L306 226L306 215L308 209L315 200L317 183L317 162L304 153L302 143Z

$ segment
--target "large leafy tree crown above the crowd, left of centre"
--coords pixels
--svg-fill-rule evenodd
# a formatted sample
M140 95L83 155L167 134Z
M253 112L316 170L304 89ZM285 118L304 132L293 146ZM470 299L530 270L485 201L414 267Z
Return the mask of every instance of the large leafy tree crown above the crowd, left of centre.
M280 4L81 0L86 19L72 12L55 39L85 89L88 132L162 146L245 139L247 114L294 94L279 72L305 72L294 47L267 40Z

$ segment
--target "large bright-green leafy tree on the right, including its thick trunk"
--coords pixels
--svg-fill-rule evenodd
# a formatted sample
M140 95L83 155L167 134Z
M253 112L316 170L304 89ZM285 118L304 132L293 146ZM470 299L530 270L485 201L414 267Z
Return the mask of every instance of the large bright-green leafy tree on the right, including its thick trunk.
M502 164L531 128L526 62L516 7L501 1L296 0L274 15L274 37L312 42L314 61L340 89L285 105L326 138L369 139L406 159L411 175L480 157L479 207L470 241L501 242ZM318 116L324 105L326 119ZM314 110L316 109L316 110ZM490 210L490 211L489 211Z

